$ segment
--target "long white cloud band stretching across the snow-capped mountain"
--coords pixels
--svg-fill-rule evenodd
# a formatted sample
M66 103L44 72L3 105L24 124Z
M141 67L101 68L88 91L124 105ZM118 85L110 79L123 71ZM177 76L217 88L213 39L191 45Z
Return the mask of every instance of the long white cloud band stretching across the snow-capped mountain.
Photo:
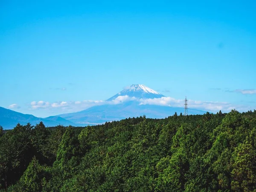
M62 110L65 113L70 112L77 112L82 111L87 108L96 106L96 105L118 105L123 102L128 101L136 101L138 102L138 105L161 105L161 106L169 106L169 107L184 107L184 101L183 99L175 99L172 97L162 97L162 98L154 98L154 99L138 99L136 97L129 97L129 96L118 96L116 99L113 99L112 101L93 101L93 100L84 100L84 101L61 101L61 102L44 102L44 101L33 101L31 102L31 109L49 109L49 110ZM252 108L249 106L244 105L233 105L228 102L212 102L212 101L195 101L195 100L189 100L188 102L188 108L191 109L199 109L203 111L209 111L216 113L218 111L223 112L229 112L232 109L236 109L238 111L248 111Z

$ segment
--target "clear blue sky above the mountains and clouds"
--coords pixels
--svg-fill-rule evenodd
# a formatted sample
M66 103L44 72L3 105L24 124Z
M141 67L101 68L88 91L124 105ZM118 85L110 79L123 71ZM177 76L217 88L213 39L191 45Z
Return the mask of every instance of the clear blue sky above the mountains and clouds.
M79 111L145 84L253 110L255 10L254 1L2 0L0 106L45 117L70 112L61 103L85 101L70 109Z

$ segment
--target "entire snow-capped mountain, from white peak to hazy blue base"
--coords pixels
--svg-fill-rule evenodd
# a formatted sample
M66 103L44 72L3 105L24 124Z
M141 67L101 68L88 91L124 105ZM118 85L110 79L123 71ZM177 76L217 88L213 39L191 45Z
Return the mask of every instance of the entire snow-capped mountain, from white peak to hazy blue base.
M58 115L76 124L101 124L114 120L145 115L148 118L165 118L183 113L184 108L146 105L142 100L166 97L143 84L132 84L105 101L104 105L93 106L76 113ZM189 114L204 114L206 111L189 109Z

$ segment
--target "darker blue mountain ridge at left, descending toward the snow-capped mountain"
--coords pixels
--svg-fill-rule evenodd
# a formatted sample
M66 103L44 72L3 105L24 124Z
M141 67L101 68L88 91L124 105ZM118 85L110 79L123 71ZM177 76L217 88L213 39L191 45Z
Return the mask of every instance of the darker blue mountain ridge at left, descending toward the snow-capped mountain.
M36 125L39 122L44 122L45 126L56 126L56 125L73 125L76 126L75 123L63 119L61 117L56 116L50 116L47 118L39 118L33 115L29 114L23 114L18 113L16 111L12 111L6 108L0 107L0 125L3 126L4 129L12 129L14 128L18 123L21 125L26 125L28 122L31 123L31 125Z

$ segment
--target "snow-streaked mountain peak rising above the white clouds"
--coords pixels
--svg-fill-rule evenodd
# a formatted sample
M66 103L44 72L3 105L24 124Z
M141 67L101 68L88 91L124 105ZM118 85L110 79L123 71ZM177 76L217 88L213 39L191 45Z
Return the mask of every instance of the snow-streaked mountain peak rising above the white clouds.
M153 99L165 97L164 95L158 93L157 91L145 86L144 84L132 84L121 92L117 93L113 97L107 99L107 101L112 101L118 96L129 96L143 99Z

